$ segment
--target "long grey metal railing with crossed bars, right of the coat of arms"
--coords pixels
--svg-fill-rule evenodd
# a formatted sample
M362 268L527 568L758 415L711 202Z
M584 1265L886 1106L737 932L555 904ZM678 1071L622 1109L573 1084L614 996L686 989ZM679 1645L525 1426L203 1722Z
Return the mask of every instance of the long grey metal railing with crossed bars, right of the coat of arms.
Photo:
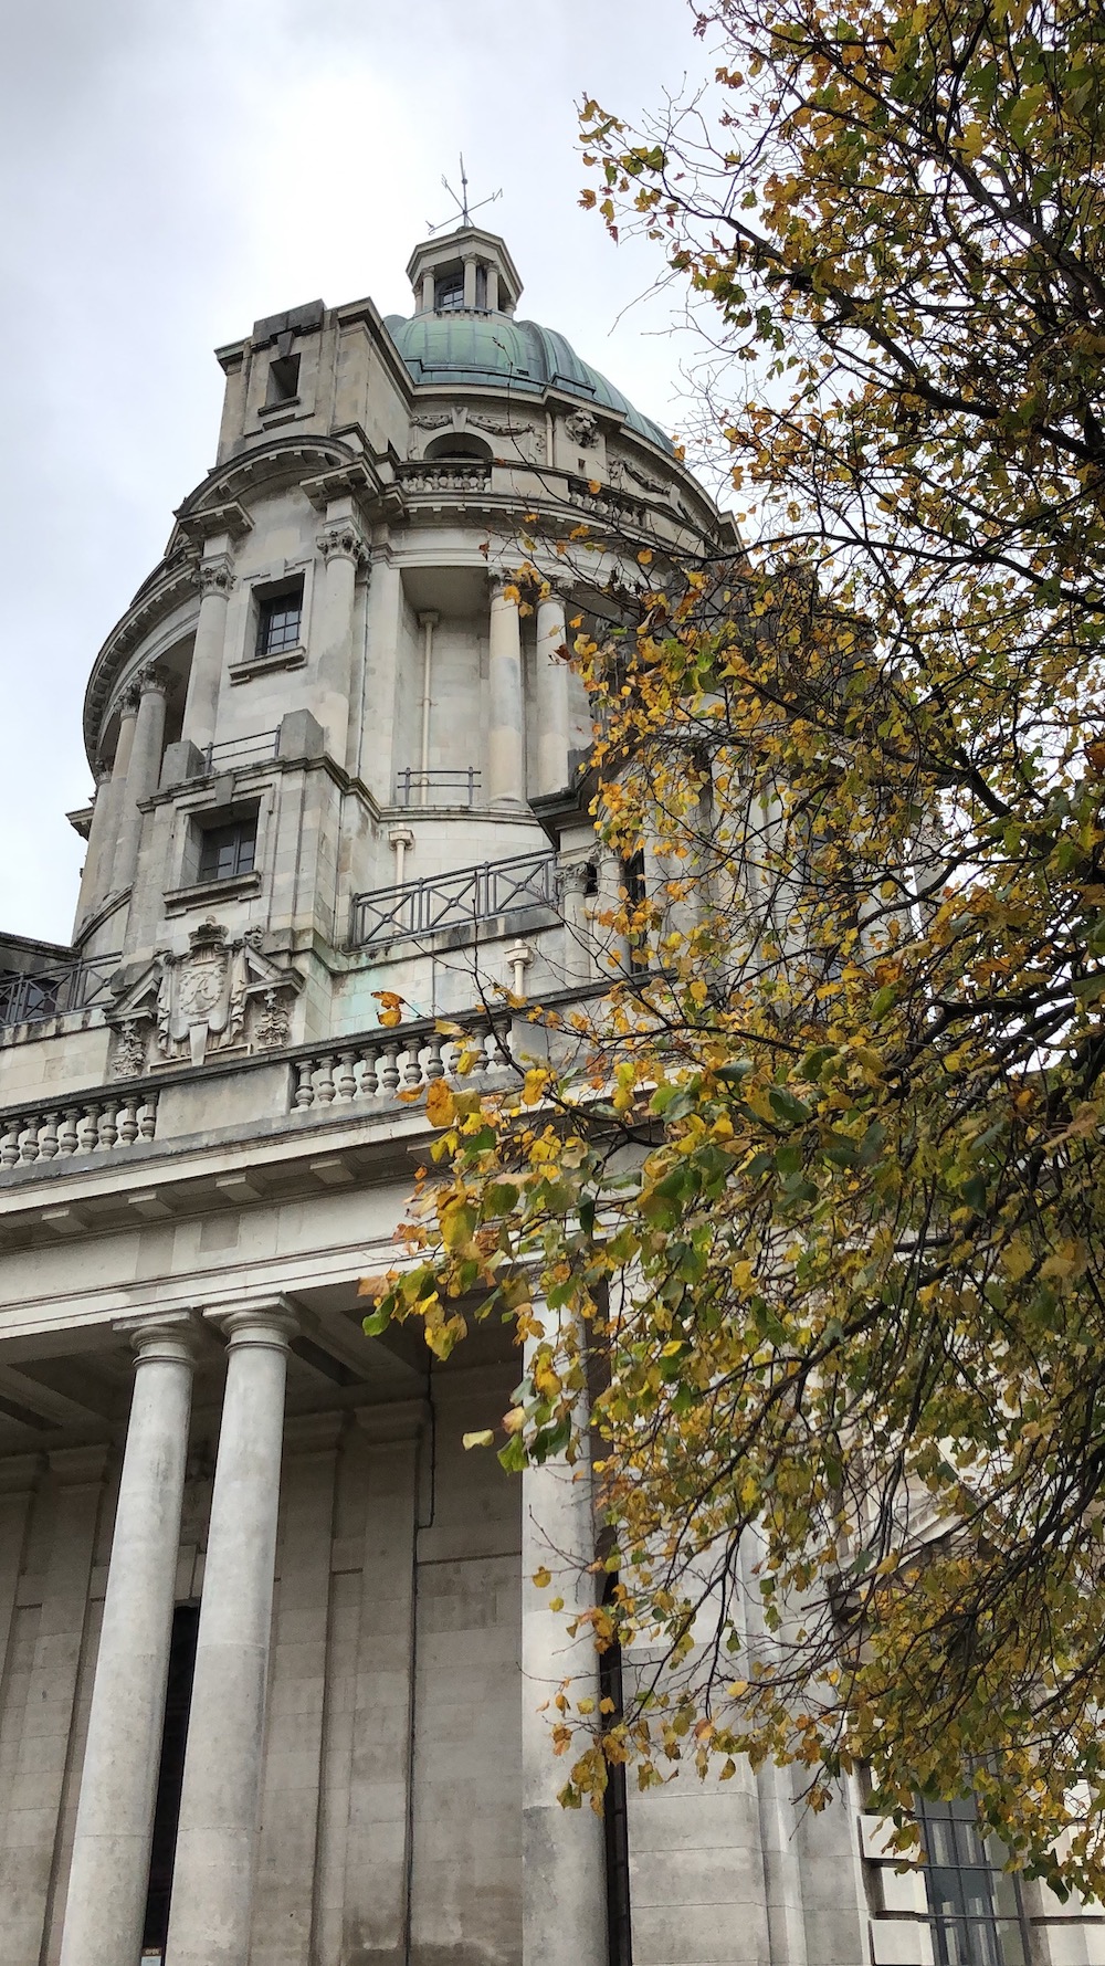
M374 948L399 936L429 936L436 928L486 922L521 908L551 908L556 863L551 853L482 861L427 881L381 887L354 898L352 944Z

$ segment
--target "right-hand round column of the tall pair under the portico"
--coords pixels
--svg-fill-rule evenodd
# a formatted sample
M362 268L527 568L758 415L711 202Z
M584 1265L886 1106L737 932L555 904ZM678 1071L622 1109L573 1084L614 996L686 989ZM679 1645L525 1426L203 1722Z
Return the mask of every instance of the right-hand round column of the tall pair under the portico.
M246 1966L262 1805L287 1341L283 1298L230 1335L177 1828L167 1966Z

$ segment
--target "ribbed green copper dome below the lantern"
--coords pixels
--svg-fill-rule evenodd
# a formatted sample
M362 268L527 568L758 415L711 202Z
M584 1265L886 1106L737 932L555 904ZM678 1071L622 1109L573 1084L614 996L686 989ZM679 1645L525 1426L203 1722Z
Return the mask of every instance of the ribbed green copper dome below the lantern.
M633 409L621 389L606 376L580 362L576 350L537 320L515 320L511 315L440 313L387 315L383 326L399 348L417 383L448 387L515 389L539 395L543 389L564 389L596 409L615 409L631 431L670 454L670 438L659 423Z

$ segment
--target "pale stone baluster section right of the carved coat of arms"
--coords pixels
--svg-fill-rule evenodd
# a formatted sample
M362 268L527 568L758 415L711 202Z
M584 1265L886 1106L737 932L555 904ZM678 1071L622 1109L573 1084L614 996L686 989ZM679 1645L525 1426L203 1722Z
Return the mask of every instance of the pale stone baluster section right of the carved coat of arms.
M444 1036L433 1024L397 1026L379 1038L330 1044L295 1060L293 1111L352 1105L354 1101L395 1099L399 1093L456 1075L462 1052L476 1052L472 1075L501 1073L511 1068L509 1018L492 1018L484 1030L464 1038Z

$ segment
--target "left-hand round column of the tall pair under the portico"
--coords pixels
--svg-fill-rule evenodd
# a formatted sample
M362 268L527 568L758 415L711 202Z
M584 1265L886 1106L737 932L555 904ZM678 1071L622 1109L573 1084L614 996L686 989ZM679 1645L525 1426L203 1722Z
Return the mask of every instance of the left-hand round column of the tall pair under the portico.
M122 1325L134 1396L81 1773L61 1966L138 1960L149 1881L195 1339L189 1317Z

